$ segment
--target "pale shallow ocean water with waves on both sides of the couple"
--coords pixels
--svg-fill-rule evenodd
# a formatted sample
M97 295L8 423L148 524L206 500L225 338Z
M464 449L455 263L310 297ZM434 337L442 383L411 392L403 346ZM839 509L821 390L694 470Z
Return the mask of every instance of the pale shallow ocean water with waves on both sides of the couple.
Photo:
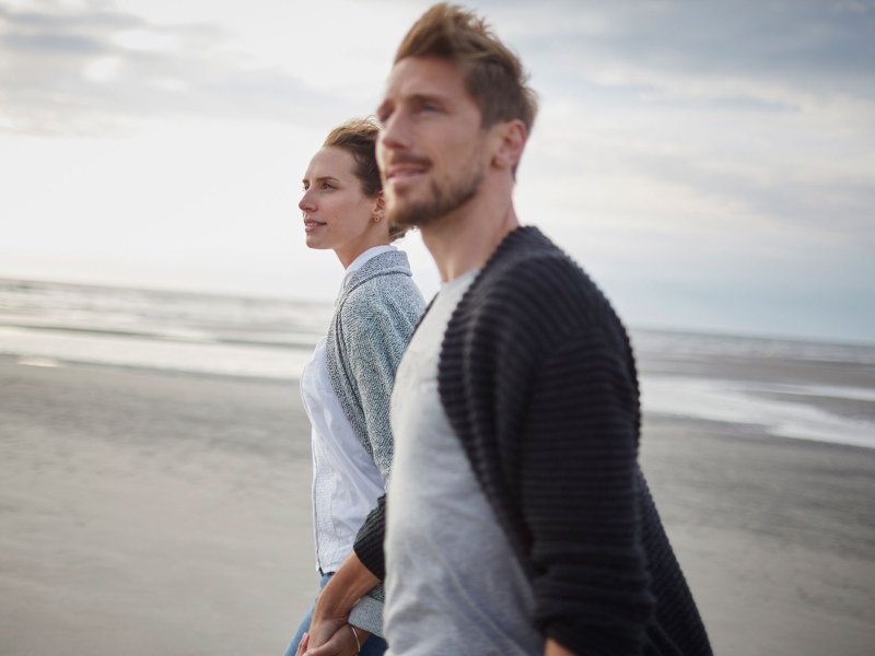
M331 311L330 303L0 279L0 355L31 366L292 382ZM630 332L645 420L875 447L875 345Z

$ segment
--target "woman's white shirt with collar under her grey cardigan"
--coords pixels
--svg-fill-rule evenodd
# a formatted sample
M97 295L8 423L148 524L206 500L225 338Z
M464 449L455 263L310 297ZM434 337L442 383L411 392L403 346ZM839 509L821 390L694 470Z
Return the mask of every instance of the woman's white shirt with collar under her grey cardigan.
M368 260L394 246L375 246L347 268L343 285ZM312 430L313 528L316 567L335 572L352 551L365 517L376 506L384 484L337 399L328 375L323 338L301 376L301 396Z

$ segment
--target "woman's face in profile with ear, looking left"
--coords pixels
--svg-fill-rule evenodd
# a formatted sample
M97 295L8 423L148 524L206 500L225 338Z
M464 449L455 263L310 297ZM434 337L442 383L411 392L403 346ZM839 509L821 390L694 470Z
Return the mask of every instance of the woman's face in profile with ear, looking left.
M298 203L307 246L334 249L345 267L371 246L388 242L382 199L364 195L354 167L351 153L323 148L304 174L304 196Z

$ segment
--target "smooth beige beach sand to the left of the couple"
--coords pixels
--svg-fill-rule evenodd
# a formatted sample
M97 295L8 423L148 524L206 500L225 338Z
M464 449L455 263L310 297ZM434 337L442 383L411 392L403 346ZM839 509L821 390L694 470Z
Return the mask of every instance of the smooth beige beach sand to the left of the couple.
M312 599L293 384L0 359L0 654L282 654Z

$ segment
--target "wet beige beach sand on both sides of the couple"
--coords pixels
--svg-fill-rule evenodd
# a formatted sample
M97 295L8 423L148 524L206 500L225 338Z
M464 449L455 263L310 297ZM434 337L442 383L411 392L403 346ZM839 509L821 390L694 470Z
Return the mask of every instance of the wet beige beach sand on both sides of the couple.
M875 450L651 419L715 653L875 651ZM281 654L315 586L293 383L0 359L0 655Z

